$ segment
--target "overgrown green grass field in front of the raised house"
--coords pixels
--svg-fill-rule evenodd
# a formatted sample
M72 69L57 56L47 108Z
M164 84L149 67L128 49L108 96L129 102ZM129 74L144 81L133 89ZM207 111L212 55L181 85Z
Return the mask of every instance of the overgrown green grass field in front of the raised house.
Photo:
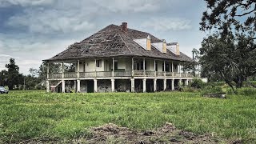
M256 141L256 94L203 98L199 93L0 94L0 143L31 138L70 139L90 126L114 123L152 130L171 122L196 134Z

